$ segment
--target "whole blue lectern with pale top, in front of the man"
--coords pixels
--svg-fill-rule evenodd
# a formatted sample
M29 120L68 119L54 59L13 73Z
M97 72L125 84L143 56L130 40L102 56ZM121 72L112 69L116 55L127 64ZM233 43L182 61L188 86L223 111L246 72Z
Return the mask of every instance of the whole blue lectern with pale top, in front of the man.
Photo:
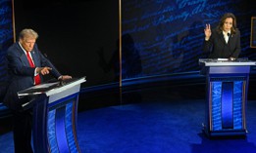
M33 107L32 139L35 153L79 153L77 102L85 77L44 83L18 93L28 96Z

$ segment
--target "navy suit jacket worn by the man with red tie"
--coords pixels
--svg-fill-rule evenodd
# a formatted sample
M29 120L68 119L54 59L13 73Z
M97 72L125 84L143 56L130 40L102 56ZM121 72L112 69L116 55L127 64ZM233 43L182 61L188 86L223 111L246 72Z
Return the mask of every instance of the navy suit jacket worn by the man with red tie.
M35 67L51 67L53 69L50 71L50 73L55 78L61 76L61 74L52 65L52 63L46 57L43 57L36 44L31 51L31 56L33 58ZM7 94L4 98L4 104L6 104L11 109L20 110L22 108L22 103L27 102L27 98L19 98L18 92L33 86L35 68L31 68L29 66L26 54L19 43L13 44L8 49L7 60L9 86L7 89ZM42 82L43 78L41 75L40 78Z

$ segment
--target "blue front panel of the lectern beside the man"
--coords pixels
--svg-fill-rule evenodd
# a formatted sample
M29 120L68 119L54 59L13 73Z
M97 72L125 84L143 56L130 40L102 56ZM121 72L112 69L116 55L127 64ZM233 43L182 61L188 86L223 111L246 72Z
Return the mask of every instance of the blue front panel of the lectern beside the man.
M78 94L66 96L49 104L48 141L51 153L69 151L77 153L74 109L77 109Z

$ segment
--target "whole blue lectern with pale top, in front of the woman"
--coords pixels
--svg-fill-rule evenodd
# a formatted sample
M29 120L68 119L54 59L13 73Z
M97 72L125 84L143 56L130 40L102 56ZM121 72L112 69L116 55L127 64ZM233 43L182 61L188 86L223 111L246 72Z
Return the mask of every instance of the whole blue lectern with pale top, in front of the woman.
M250 67L255 61L201 58L207 104L203 131L213 136L246 136L246 102Z

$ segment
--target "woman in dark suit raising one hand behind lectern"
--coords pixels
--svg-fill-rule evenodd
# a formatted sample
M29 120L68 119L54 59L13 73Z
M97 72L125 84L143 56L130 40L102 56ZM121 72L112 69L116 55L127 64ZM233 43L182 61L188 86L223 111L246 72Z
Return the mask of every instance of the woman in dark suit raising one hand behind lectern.
M209 58L230 58L234 60L240 54L240 31L236 28L233 14L225 14L216 29L206 24L204 29L204 52L210 52Z

